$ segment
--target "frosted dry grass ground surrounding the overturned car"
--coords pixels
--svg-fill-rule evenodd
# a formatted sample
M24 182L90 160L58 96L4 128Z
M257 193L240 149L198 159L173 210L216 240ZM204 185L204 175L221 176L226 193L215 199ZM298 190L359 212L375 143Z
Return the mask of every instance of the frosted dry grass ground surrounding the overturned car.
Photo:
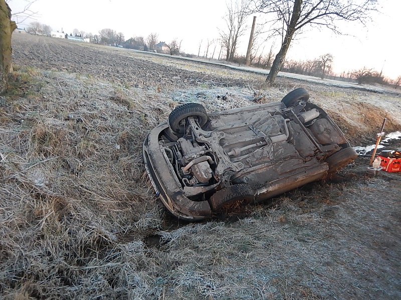
M279 100L297 81L263 88L257 78L218 68L183 76L136 58L126 66L130 79L119 81L121 74L100 73L109 65L77 61L79 72L60 71L63 61L44 50L59 47L89 61L86 47L29 38L14 48L20 65L25 48L37 53L31 67L16 71L0 98L0 298L401 298L401 177L367 177L368 157L330 180L202 223L177 222L154 197L141 146L175 105L193 100L212 111L259 96ZM91 51L104 64L125 63L122 55ZM41 59L54 61L47 67ZM130 84L139 82L134 67L141 65L160 80ZM182 82L169 81L171 72ZM374 137L377 111L386 113L366 103L376 94L302 86L349 137ZM365 122L371 108L377 114ZM390 118L389 126L399 124Z

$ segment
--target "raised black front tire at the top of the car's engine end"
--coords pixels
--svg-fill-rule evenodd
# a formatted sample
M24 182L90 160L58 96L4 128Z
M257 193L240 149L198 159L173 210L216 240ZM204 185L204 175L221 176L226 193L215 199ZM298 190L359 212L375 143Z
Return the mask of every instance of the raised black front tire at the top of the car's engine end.
M180 122L188 116L197 117L197 121L201 127L208 121L208 114L202 104L185 103L175 107L168 116L168 123L171 129L177 133L184 133L185 128Z

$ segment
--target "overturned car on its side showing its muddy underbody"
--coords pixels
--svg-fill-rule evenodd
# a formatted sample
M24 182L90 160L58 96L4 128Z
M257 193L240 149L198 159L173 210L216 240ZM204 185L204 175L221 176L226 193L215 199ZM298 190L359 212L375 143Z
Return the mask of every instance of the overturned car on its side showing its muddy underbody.
M222 207L260 202L334 173L357 154L309 93L207 113L177 106L143 144L150 181L176 217L202 220Z

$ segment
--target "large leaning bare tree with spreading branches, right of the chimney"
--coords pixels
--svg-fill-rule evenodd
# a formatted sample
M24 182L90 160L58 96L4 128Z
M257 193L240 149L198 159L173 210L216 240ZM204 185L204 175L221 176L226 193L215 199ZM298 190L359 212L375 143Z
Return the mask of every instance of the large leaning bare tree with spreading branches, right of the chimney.
M375 10L375 0L255 0L254 10L273 17L272 30L283 32L283 39L266 81L273 84L283 67L285 56L295 34L306 26L327 27L340 33L338 20L360 21L369 19Z

